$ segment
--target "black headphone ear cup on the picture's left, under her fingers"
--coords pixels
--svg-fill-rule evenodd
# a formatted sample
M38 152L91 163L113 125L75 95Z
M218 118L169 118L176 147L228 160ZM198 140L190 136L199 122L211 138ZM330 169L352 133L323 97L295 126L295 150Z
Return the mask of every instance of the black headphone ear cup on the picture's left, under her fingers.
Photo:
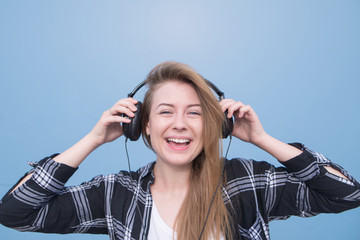
M134 112L135 116L131 118L130 123L123 123L123 132L124 136L131 141L136 141L139 139L141 135L141 110L142 110L142 103L138 101L135 104L137 111Z

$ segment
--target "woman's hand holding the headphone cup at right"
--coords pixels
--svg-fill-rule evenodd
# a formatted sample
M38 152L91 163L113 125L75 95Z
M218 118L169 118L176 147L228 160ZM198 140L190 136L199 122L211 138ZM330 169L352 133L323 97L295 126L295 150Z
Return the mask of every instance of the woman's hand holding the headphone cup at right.
M233 99L223 99L220 101L220 106L224 112L228 110L228 118L234 116L233 136L256 145L266 135L257 114L250 105Z

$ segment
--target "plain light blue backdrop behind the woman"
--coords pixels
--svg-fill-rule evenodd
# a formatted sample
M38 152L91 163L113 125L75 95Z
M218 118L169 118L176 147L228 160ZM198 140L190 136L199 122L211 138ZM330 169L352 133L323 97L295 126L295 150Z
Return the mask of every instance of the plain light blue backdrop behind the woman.
M0 2L0 194L36 161L88 133L156 64L193 66L265 129L360 179L359 1ZM143 92L137 95L141 99ZM227 146L227 141L225 141ZM155 159L129 143L132 168ZM230 157L275 159L234 140ZM92 153L69 184L127 169L124 139ZM360 239L360 209L270 224L272 239ZM1 239L108 239L20 233Z

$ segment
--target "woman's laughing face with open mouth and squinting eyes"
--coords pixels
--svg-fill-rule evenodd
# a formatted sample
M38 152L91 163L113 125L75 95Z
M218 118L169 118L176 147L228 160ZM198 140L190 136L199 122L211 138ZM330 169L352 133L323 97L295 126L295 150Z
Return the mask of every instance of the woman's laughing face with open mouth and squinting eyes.
M188 83L170 80L155 90L146 133L157 162L191 168L203 149L200 100Z

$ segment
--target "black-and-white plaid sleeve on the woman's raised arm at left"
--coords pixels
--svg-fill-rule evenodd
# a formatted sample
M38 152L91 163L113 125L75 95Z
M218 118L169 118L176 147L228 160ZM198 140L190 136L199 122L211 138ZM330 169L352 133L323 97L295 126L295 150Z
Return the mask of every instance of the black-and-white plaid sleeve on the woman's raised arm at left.
M54 156L35 164L31 178L2 198L0 223L19 231L106 233L103 177L64 187L77 169Z

